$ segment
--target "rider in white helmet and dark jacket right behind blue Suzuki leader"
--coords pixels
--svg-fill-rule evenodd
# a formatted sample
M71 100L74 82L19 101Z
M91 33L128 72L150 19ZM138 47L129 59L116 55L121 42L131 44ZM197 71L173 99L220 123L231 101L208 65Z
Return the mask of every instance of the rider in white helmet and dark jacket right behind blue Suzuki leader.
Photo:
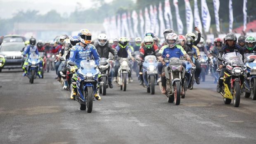
M114 58L117 57L117 52L116 50L111 47L111 45L107 42L107 35L105 33L101 33L98 35L98 41L95 43L95 47L97 49L98 54L100 57L105 57L109 58L109 52L111 52L114 56ZM112 85L112 76L113 76L113 71L110 71L109 73L109 87L113 88Z

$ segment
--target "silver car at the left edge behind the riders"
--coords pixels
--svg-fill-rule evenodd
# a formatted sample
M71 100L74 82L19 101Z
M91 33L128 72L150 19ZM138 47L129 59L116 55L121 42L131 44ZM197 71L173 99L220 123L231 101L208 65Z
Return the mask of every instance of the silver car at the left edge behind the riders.
M21 50L24 42L5 42L0 45L0 72L3 68L22 68L24 59Z

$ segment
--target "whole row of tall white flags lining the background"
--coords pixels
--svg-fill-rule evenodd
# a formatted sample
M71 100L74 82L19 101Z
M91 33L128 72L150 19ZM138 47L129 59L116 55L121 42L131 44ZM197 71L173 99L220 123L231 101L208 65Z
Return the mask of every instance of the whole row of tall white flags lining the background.
M191 9L190 1L185 2L185 20L186 28L183 29L183 21L180 19L178 0L173 0L175 7L175 17L177 21L177 33L191 33L194 29L193 26L198 27L200 30L204 28L205 33L209 33L211 25L211 16L206 3L206 0L201 0L201 17L199 15L199 8L197 6L197 0L194 0L194 12ZM220 32L219 21L219 7L220 0L213 0L214 15L216 21L216 31ZM135 10L132 12L125 12L123 14L117 14L116 16L106 17L103 22L105 33L109 35L109 38L117 38L121 36L126 37L142 37L147 30L152 30L156 35L162 35L166 28L173 29L173 9L171 9L171 3L169 0L164 1L164 11L162 9L162 3L159 2L158 7L156 5L150 5L142 9L139 13ZM247 0L243 1L243 14L244 14L244 31L247 24ZM232 32L233 28L233 8L232 0L229 0L229 32Z

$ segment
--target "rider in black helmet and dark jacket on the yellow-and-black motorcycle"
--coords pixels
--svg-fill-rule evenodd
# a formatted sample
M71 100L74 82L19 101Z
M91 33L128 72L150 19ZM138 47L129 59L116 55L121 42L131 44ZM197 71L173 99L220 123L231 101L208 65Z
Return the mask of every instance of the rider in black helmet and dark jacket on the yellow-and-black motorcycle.
M223 47L221 47L219 56L224 57L224 55L229 52L236 52L236 54L237 53L242 54L242 59L244 60L244 50L242 49L241 46L237 45L236 42L237 42L237 36L234 33L228 33L225 36L225 45ZM221 69L220 77L219 77L218 85L217 85L217 92L219 92L219 93L221 92L221 87L223 85L223 80L220 78L223 78L224 71L226 71L222 62L223 61L221 61L221 60L218 61L219 68Z

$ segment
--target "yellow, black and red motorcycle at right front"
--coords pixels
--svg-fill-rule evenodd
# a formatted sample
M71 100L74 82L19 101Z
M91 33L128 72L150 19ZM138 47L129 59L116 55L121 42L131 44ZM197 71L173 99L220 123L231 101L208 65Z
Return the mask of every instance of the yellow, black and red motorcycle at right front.
M244 80L244 62L242 55L237 56L236 52L230 52L218 59L225 61L224 76L220 94L223 96L225 104L230 104L233 99L233 104L238 107L240 104L241 86ZM227 72L226 72L227 71Z

